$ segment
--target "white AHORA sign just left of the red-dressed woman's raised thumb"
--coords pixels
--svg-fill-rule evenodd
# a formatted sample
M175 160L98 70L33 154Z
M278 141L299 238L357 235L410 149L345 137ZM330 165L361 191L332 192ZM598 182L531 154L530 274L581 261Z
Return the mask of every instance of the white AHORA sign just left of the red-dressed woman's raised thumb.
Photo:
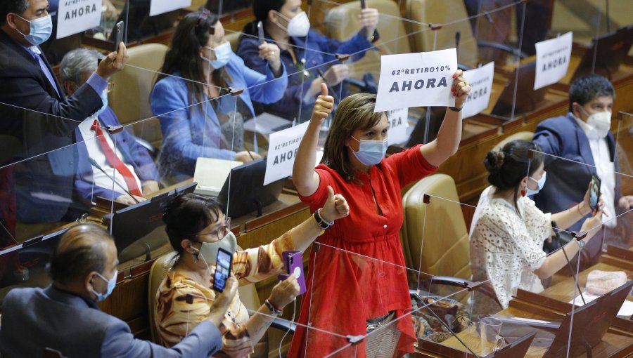
M309 121L269 136L264 185L293 175L295 157L308 124Z

